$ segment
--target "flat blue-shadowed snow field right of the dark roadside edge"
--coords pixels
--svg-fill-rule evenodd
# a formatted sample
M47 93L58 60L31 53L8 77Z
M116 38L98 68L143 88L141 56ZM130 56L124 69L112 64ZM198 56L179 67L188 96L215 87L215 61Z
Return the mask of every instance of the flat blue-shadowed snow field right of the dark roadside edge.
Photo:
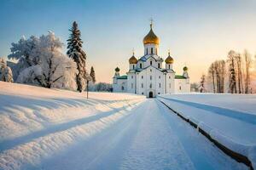
M247 156L256 168L256 95L166 94L158 99L212 139Z

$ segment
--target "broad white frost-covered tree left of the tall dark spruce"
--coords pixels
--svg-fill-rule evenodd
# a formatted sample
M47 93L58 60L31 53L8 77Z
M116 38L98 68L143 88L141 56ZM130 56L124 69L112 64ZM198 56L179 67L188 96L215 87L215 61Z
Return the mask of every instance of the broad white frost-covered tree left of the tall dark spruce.
M44 88L74 89L76 65L61 53L63 43L55 34L41 37L22 37L12 43L10 59L19 59L16 82L38 84Z

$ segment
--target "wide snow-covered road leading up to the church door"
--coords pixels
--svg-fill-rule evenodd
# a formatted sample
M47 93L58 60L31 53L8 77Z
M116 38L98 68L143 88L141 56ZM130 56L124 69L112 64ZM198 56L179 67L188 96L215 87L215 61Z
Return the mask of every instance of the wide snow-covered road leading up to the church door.
M157 99L26 169L247 169Z

